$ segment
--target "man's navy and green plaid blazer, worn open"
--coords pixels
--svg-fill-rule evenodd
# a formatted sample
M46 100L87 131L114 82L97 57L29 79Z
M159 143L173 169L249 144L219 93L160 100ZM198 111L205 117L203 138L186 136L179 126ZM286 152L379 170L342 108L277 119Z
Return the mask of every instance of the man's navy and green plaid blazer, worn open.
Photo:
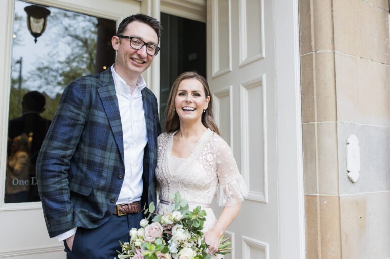
M142 204L156 201L157 99L142 91L148 143ZM65 88L36 164L50 237L74 227L95 228L114 210L125 174L121 117L111 70L81 77Z

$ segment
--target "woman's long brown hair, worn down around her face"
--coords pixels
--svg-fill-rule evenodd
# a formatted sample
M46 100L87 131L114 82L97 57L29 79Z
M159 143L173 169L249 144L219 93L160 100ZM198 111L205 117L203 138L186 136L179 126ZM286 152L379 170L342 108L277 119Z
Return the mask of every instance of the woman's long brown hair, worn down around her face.
M204 113L202 113L202 124L206 127L217 133L218 135L221 135L218 129L217 124L214 121L213 116L213 99L210 94L209 85L207 84L206 79L199 75L197 72L193 71L187 71L179 75L175 82L172 85L171 91L169 93L168 97L168 103L167 108L165 110L165 131L166 132L173 132L180 128L180 121L179 116L177 115L175 111L175 98L177 95L177 91L179 89L179 85L183 80L186 79L196 79L199 82L202 83L203 89L205 91L206 98L207 96L210 96L209 104L207 106L207 109Z

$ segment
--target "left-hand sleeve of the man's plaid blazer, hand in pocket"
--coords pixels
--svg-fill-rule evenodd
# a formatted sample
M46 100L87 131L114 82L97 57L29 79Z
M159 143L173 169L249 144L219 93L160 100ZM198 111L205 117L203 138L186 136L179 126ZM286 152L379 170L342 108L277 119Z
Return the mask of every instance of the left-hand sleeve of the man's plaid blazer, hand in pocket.
M36 163L37 184L50 237L74 227L68 171L86 118L83 95L77 82L65 88Z

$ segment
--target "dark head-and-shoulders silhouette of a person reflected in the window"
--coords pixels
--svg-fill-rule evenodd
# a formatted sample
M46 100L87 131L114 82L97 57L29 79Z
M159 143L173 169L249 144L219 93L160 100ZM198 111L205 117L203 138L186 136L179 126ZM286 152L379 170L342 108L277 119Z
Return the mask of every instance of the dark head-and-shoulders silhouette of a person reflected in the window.
M22 116L8 124L9 156L6 171L6 203L39 201L35 164L51 121L40 114L46 98L27 92L21 103Z

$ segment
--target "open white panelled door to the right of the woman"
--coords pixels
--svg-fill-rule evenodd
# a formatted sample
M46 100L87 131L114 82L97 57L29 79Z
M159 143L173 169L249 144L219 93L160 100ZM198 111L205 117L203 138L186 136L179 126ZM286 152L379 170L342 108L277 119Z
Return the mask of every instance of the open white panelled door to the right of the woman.
M231 146L249 189L238 218L226 232L234 249L225 258L281 258L278 200L285 193L278 190L274 1L207 3L207 79L222 137ZM291 98L294 104L295 96ZM291 137L300 141L297 135ZM213 208L220 211L216 205Z

